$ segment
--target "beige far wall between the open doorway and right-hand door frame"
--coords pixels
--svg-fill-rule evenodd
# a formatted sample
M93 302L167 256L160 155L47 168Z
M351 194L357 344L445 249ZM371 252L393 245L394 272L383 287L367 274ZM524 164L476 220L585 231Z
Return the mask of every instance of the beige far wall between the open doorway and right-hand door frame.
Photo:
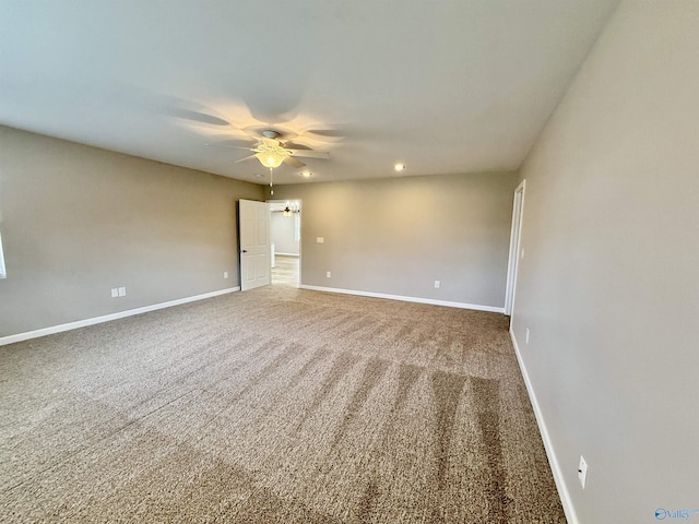
M281 186L274 198L303 202L303 285L501 308L517 183L404 177Z

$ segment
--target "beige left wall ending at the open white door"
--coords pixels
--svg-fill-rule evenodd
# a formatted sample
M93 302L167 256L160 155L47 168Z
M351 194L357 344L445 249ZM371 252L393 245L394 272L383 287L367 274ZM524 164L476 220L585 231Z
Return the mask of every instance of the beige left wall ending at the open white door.
M263 188L0 128L0 336L238 286L240 198Z

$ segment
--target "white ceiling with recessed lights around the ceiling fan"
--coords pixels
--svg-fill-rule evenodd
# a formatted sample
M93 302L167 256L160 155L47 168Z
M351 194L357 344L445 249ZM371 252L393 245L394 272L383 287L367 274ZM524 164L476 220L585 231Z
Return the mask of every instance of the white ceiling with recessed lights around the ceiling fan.
M0 0L0 123L256 182L205 144L298 134L317 181L511 170L616 3Z

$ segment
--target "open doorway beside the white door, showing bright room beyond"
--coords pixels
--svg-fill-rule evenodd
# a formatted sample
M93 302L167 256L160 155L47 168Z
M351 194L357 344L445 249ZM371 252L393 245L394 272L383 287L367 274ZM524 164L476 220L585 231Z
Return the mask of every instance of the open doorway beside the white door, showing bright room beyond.
M268 201L272 240L272 285L298 287L301 264L301 203Z

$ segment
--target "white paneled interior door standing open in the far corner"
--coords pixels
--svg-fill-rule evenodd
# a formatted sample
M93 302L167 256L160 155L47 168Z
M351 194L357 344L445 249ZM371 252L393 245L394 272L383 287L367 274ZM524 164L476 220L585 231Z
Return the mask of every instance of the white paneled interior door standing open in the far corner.
M265 202L239 202L240 289L270 284L270 206Z

